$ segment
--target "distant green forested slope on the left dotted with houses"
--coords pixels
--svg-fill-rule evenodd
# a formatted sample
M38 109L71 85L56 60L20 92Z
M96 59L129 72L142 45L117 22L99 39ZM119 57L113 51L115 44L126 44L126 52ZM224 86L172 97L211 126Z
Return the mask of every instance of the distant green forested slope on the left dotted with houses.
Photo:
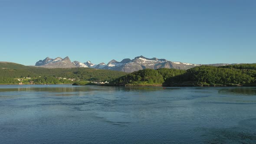
M0 63L0 84L18 84L18 79L25 84L61 84L73 83L74 81L105 82L126 74L125 72L103 69L46 69L15 63Z

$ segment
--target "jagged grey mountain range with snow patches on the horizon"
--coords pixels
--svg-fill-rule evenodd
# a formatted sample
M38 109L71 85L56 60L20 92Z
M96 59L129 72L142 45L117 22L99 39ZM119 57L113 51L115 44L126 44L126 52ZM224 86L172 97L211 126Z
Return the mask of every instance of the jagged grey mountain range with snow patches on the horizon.
M85 68L95 68L95 69L111 69L122 72L135 72L141 69L190 69L195 66L200 66L201 64L191 64L183 62L171 62L166 59L158 58L146 58L144 56L137 56L134 59L123 59L121 62L115 59L105 64L104 62L99 64L93 64L90 61L87 62L71 62L69 57L64 59L57 57L56 59L51 59L47 57L46 59L39 60L36 62L35 66L45 67L45 68L74 68L74 67L85 67ZM229 64L208 64L214 66L229 65Z

